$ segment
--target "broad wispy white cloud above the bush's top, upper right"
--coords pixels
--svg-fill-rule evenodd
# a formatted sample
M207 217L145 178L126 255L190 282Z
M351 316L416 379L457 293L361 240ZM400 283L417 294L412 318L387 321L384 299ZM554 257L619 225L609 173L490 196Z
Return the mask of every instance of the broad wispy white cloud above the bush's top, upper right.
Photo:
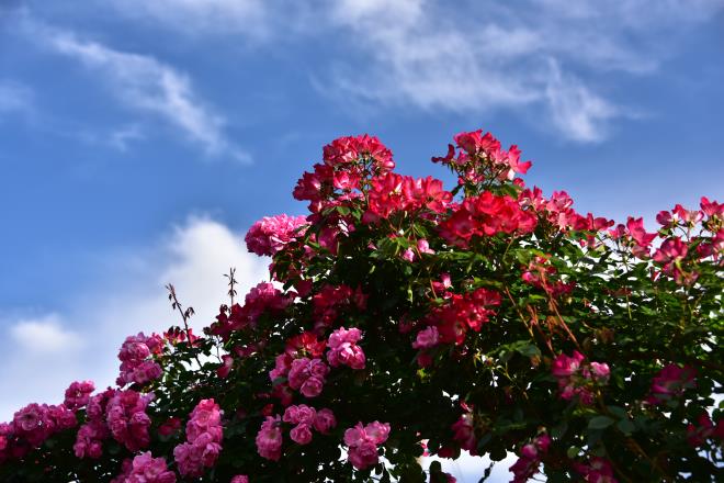
M656 70L664 57L656 47L661 32L704 21L723 2L476 5L456 12L426 0L336 3L333 21L353 32L355 45L372 59L362 71L337 70L337 89L426 110L512 109L527 117L532 110L535 119L551 119L564 137L598 142L607 136L608 121L631 114L598 91L596 72Z

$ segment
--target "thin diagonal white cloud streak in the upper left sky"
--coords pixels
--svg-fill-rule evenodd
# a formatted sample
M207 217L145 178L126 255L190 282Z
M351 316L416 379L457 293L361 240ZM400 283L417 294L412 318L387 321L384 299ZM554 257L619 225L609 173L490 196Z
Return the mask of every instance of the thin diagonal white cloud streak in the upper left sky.
M211 156L249 160L226 138L224 117L204 105L183 72L148 55L115 50L68 32L45 31L50 47L97 70L127 106L159 116Z

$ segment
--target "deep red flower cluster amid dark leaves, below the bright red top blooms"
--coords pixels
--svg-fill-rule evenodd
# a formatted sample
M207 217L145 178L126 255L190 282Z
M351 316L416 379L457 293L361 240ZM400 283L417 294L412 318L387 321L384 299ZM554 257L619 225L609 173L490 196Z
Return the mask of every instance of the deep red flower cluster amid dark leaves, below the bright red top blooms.
M476 289L464 294L452 294L448 303L432 311L430 325L437 325L440 342L463 344L467 329L479 332L483 324L495 314L491 308L500 305L500 294L494 290ZM433 333L429 333L433 336Z

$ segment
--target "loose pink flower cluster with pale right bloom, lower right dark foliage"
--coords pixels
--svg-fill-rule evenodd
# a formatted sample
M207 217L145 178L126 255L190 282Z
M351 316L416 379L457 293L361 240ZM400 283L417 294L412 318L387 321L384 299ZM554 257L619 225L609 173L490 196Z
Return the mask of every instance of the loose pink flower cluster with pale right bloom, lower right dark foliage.
M559 353L551 367L551 373L558 380L561 398L569 401L578 396L581 404L593 402L592 387L597 384L606 384L609 380L610 370L602 362L584 363L586 357L574 350L572 357Z

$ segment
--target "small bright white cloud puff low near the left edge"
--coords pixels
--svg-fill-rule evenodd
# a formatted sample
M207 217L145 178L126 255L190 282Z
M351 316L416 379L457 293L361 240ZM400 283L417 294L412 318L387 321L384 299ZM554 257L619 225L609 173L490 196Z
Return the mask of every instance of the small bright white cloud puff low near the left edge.
M57 314L20 319L10 328L10 335L21 349L31 355L72 351L83 345L78 334L64 327Z

